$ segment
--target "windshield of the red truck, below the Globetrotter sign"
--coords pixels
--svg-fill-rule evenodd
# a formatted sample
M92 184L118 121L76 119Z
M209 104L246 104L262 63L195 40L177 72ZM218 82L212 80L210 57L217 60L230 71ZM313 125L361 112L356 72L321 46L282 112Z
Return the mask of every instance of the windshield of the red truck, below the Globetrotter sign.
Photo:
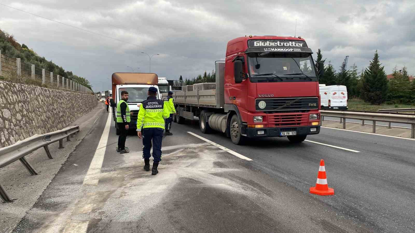
M317 82L309 53L248 53L251 82Z

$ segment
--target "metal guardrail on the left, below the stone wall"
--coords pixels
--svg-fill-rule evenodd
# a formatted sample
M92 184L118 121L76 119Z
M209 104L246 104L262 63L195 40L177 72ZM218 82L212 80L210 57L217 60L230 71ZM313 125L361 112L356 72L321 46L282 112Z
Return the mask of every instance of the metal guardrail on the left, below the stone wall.
M49 151L49 144L59 141L59 149L61 149L63 148L63 138L66 138L66 141L71 141L70 138L73 137L73 135L76 135L78 131L79 126L75 125L51 133L36 134L22 141L17 141L17 143L13 145L0 148L0 168L20 160L31 175L38 175L37 171L29 162L27 162L24 156L43 147L48 158L52 159L53 157ZM1 184L0 197L4 202L13 201Z

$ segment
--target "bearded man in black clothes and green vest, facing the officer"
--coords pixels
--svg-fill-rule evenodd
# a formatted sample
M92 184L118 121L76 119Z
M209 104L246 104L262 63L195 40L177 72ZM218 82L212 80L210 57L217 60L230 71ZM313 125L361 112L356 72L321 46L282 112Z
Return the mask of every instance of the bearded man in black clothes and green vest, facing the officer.
M125 147L125 140L127 139L127 133L129 129L130 113L127 104L128 92L121 92L121 100L117 103L117 127L120 129L120 135L118 136L117 152L120 154L129 153L128 147Z

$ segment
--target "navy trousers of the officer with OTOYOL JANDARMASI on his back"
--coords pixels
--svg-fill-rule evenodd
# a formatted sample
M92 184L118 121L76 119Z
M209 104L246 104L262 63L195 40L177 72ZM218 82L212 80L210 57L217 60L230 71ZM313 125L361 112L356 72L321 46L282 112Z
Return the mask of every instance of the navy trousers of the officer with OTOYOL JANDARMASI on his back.
M141 131L143 135L143 158L151 157L151 142L153 146L153 161L161 161L161 141L163 140L163 129L161 128L145 128Z

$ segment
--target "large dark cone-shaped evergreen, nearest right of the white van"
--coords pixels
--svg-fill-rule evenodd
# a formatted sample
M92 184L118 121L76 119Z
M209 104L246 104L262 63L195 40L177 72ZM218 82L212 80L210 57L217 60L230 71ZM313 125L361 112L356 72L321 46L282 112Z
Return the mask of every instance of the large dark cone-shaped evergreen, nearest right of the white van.
M361 97L371 104L382 104L388 94L388 80L376 50L369 67L364 71Z

